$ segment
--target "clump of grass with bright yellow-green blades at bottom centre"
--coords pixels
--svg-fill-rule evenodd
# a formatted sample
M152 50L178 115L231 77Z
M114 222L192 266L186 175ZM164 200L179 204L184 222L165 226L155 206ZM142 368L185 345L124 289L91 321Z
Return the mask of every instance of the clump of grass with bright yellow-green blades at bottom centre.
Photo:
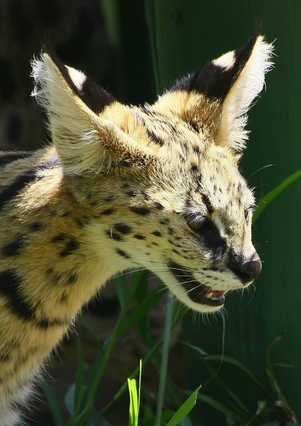
M138 426L141 386L143 386L143 381L141 382L141 372L143 370L143 366L145 366L150 360L157 366L158 371L160 371L157 408L155 410L156 413L154 414L153 407L144 403L144 416L143 419L139 420L139 424L143 426L163 426L166 424L168 424L168 426L191 426L191 423L187 420L187 418L185 420L185 417L187 417L188 413L190 413L190 410L192 410L195 405L197 392L200 387L183 402L182 392L175 387L173 381L168 376L170 332L173 329L173 303L171 303L172 300L170 300L167 307L167 320L165 322L163 339L159 339L158 342L153 342L148 323L148 314L158 300L163 297L166 290L163 285L158 285L155 289L147 291L146 278L146 271L133 273L133 279L131 280L131 287L129 289L126 289L124 276L116 278L116 294L119 298L121 312L111 336L106 340L106 342L104 342L104 344L101 344L101 342L97 340L97 337L94 336L87 320L84 320L84 318L81 317L80 320L93 335L94 341L99 347L99 352L95 357L91 368L89 368L89 372L87 372L87 367L84 362L82 342L80 339L77 339L77 371L75 374L75 381L72 383L65 395L65 406L70 414L70 418L67 422L64 422L63 420L60 405L55 398L53 389L48 385L48 383L42 383L41 386L53 415L55 426L110 426L110 423L105 418L106 412L112 405L114 405L114 403L116 403L116 400L118 400L121 395L126 392L127 388L130 395L128 424L129 426ZM146 344L148 344L148 354L143 360L141 360L140 365L133 371L133 373L131 373L127 382L119 388L119 391L113 396L113 398L111 398L109 403L97 412L94 407L94 399L97 395L97 390L102 383L102 378L111 356L111 352L119 339L121 339L121 337L128 332L128 329L133 326L136 326L140 330L141 337L143 337ZM158 350L162 344L163 356L160 358L160 356L158 356ZM137 376L138 390L136 386ZM164 406L166 389L170 394L170 398L174 401L174 409L172 410L170 410L170 408L165 408ZM178 408L179 406L180 408Z

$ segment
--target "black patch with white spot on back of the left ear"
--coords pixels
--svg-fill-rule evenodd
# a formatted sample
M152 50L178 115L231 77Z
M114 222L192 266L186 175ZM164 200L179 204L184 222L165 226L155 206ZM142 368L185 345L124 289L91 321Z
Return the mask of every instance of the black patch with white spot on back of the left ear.
M72 90L95 114L100 114L105 107L115 102L114 97L106 90L99 87L91 78L75 68L63 64L55 53L45 53L60 71L62 78ZM40 70L33 62L33 77L39 80ZM36 75L35 75L36 74Z

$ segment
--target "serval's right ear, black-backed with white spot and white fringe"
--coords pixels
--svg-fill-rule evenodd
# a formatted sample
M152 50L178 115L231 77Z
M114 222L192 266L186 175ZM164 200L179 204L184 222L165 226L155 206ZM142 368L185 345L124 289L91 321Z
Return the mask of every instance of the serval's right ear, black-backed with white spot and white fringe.
M263 89L272 53L273 45L262 35L250 38L246 45L177 82L158 100L158 107L164 104L208 132L214 143L241 151L248 138L247 112Z

